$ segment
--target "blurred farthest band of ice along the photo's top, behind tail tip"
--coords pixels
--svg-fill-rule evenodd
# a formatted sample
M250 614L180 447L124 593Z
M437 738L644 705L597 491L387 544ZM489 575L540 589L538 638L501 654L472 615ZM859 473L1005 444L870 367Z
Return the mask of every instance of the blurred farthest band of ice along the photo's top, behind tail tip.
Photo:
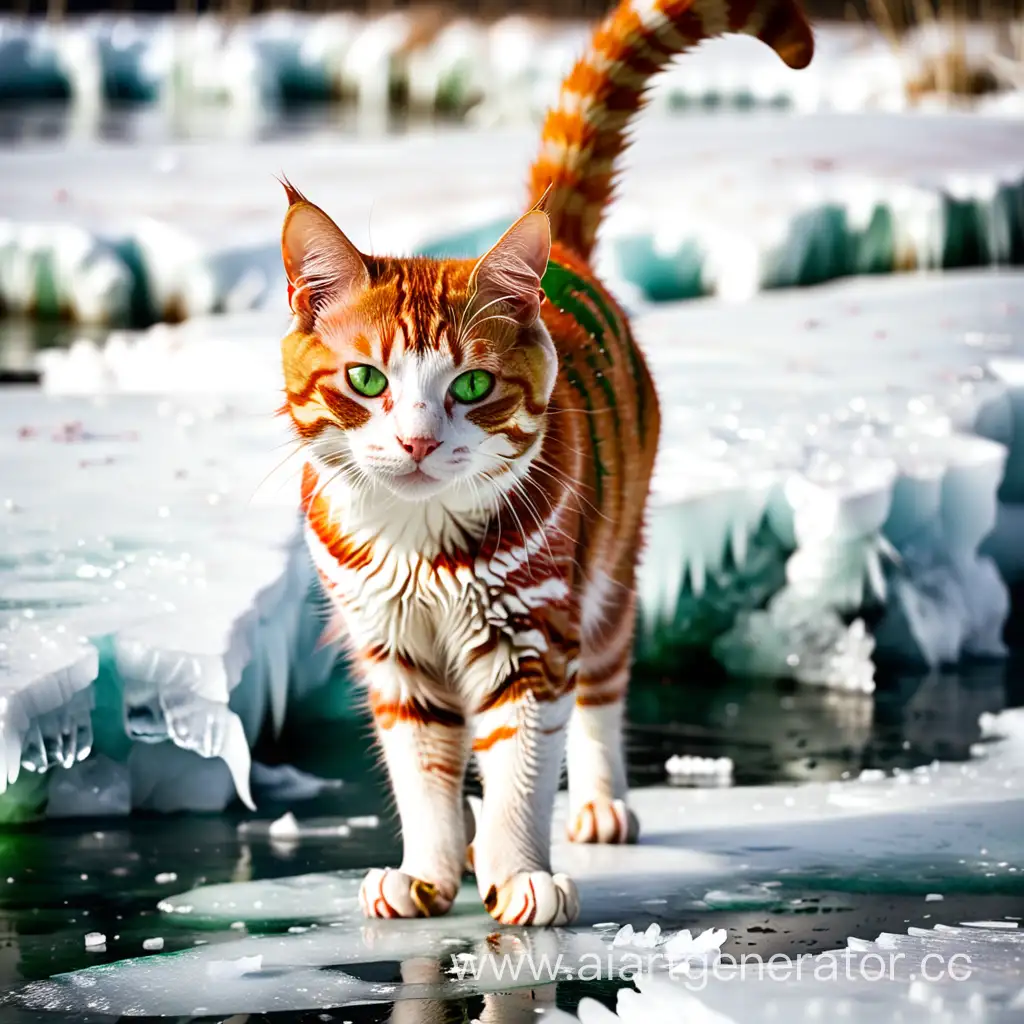
M278 11L233 25L211 16L118 14L59 26L6 18L0 98L71 95L91 106L125 98L174 108L223 102L246 113L351 97L379 115L397 92L417 111L462 112L482 101L474 119L490 123L543 112L589 30L587 23L516 15L485 24L403 11L371 18ZM972 70L1004 89L1021 88L1001 27L972 27L954 39L933 25L911 32L899 49L866 25L825 25L815 34L815 60L800 75L746 39L705 44L664 76L654 101L671 109L934 106L949 99L936 94L934 81L929 86L930 63L961 46Z

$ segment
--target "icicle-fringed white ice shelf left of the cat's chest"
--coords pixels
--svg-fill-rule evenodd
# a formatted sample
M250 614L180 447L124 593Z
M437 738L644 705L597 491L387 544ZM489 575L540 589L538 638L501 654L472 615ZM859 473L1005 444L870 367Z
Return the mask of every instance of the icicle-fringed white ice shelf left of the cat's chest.
M59 765L54 815L252 804L310 585L297 477L259 489L287 453L273 402L5 391L0 792ZM307 782L279 776L256 781Z

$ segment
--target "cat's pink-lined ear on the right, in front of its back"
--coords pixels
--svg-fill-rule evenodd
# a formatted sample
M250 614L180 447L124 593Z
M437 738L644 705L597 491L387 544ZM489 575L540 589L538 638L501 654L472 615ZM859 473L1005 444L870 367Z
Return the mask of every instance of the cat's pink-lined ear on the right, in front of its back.
M543 210L523 214L477 261L470 275L474 309L504 306L519 327L541 314L541 279L551 254L551 225ZM498 311L498 310L496 310Z

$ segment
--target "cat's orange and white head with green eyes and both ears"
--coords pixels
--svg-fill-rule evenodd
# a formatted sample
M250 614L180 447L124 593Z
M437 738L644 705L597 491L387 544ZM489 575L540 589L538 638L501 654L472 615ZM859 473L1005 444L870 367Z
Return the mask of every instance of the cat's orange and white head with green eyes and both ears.
M540 318L547 215L526 213L478 260L392 259L286 189L287 410L310 454L408 501L511 486L557 374Z

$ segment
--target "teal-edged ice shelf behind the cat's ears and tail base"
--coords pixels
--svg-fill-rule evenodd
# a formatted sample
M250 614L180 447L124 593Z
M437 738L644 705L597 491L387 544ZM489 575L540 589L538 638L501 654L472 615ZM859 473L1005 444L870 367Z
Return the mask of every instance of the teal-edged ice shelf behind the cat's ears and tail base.
M536 133L20 148L0 162L0 305L114 325L287 312L283 169L368 251L479 253L518 212ZM631 302L1024 263L1024 133L1001 119L652 114L635 135L597 254Z

